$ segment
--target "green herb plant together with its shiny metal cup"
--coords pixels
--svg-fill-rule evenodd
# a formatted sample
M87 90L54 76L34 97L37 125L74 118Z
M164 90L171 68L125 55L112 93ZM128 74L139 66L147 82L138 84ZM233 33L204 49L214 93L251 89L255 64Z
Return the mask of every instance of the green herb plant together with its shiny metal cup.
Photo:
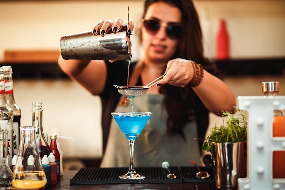
M245 177L247 112L223 112L223 124L211 128L202 149L211 152L217 189L233 189Z

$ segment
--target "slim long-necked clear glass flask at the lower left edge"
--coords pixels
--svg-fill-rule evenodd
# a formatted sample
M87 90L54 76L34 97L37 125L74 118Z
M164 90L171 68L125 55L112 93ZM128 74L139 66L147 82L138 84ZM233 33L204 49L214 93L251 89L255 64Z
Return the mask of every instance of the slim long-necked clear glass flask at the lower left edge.
M7 139L7 129L6 130L0 130L0 185L10 186L13 172L8 166L8 139Z

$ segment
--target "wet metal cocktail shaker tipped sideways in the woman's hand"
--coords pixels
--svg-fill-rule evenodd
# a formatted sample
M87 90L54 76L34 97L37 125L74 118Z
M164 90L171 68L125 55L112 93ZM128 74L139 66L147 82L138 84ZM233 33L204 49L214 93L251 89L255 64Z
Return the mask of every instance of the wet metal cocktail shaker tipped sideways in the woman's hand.
M92 31L61 36L60 51L65 60L130 60L131 40L127 24L117 33L108 28L104 37Z

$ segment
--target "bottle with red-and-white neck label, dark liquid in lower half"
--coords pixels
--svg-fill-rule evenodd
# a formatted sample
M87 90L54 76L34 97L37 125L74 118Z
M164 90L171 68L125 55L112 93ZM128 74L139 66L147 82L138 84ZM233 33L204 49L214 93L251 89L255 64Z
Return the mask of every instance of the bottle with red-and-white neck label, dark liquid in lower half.
M14 98L14 87L12 78L11 66L3 66L4 68L4 80L5 80L5 94L9 107L13 109L13 139L14 139L14 153L17 154L20 143L20 129L21 126L21 109L17 105Z

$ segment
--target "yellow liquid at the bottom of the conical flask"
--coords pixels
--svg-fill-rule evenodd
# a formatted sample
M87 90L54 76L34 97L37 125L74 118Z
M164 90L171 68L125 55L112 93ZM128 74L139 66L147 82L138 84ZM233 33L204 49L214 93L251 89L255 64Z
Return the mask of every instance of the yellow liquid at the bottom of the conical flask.
M46 185L44 171L19 171L14 176L12 185L17 188L39 188Z

